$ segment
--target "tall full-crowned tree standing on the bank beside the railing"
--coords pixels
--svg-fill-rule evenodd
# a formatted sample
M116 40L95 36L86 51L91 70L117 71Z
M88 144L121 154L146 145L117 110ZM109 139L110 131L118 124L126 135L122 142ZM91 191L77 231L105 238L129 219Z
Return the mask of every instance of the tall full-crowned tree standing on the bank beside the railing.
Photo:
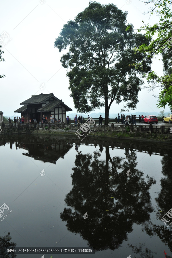
M141 77L150 72L150 57L134 51L142 44L148 45L150 39L134 33L126 17L127 12L113 4L90 2L74 21L63 26L55 41L59 52L68 50L61 62L69 69L75 108L88 113L105 106L105 124L113 101L126 102L124 108L136 108L144 83Z

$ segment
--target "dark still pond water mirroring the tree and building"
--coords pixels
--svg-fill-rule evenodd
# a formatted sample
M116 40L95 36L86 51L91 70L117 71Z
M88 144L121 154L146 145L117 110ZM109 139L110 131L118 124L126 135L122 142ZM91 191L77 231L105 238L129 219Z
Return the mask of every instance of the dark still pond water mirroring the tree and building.
M172 146L76 138L1 136L0 257L172 257Z

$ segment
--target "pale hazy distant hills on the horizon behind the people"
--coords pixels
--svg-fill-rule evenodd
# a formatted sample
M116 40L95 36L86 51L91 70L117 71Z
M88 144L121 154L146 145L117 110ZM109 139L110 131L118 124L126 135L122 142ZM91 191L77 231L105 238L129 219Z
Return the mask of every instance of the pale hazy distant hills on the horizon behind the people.
M168 111L168 112L165 112L165 116L167 116L167 114L169 113L170 111ZM67 116L69 116L71 119L72 118L74 118L75 116L76 116L76 114L77 114L77 116L82 116L82 117L84 117L84 118L87 118L88 117L88 115L86 115L86 114L80 114L80 113L69 113L69 112L66 112L66 115ZM119 113L119 115L121 116L121 114L123 114L123 113ZM126 115L136 115L137 117L140 115L143 115L143 116L148 116L148 115L154 115L154 116L158 116L158 112L156 113L156 112L152 112L152 111L150 111L150 112L128 112L128 113L125 113L124 112L124 114L125 114L125 116ZM105 113L101 113L101 112L99 112L99 113L90 113L89 114L90 115L90 117L92 117L92 118L99 118L99 116L101 115L103 118L105 118ZM114 117L117 117L117 115L118 115L118 113L115 113L115 114L109 114L109 118L114 118Z

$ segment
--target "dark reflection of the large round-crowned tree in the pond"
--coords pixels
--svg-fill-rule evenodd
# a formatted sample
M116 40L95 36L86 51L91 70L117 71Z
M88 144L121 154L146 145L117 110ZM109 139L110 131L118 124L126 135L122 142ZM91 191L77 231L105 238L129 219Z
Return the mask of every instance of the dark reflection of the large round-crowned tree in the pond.
M78 153L72 168L72 190L60 214L70 232L80 234L89 247L117 249L134 223L142 224L150 219L153 208L149 189L156 181L136 169L136 153L127 153L126 159L110 157L106 146L106 159L100 160L100 152ZM127 170L132 174L127 176ZM88 212L88 218L83 215Z

